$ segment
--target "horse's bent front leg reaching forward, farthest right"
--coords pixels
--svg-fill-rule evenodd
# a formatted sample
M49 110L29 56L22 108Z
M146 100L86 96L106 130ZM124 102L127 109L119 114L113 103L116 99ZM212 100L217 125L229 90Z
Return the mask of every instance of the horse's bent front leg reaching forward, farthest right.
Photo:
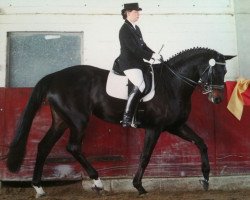
M184 140L190 141L194 143L198 149L200 150L201 155L201 170L205 180L201 180L201 184L205 190L208 190L209 187L209 173L210 173L210 165L207 153L207 146L204 143L203 139L199 137L189 126L184 124L183 126L173 129L169 131L170 133L181 137Z

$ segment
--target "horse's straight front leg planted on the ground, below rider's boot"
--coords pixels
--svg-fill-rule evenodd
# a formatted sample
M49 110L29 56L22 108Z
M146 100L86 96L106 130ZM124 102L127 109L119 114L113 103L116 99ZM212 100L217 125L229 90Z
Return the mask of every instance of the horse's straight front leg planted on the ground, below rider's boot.
M144 147L140 157L140 164L133 180L133 185L138 190L139 195L147 193L147 191L142 186L142 177L146 167L148 166L150 157L153 153L159 136L159 131L146 129Z

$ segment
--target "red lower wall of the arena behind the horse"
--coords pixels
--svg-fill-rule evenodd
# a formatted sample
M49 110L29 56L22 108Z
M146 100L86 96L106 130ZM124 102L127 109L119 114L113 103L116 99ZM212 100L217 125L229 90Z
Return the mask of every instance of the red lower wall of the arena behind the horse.
M18 174L9 173L4 157L30 92L30 88L0 88L0 180L31 179L37 144L50 126L49 107L43 105L33 122L21 171ZM244 108L239 122L226 109L226 100L214 105L197 90L192 101L188 124L208 145L211 175L249 174L250 108ZM102 177L131 176L138 166L143 138L142 129L124 129L93 117L87 128L83 152ZM67 140L68 133L49 155L44 167L45 179L75 179L81 176L83 171L80 165L65 150ZM70 167L69 173L62 174L58 170L62 165ZM199 152L193 144L164 132L155 148L146 176L201 176Z

